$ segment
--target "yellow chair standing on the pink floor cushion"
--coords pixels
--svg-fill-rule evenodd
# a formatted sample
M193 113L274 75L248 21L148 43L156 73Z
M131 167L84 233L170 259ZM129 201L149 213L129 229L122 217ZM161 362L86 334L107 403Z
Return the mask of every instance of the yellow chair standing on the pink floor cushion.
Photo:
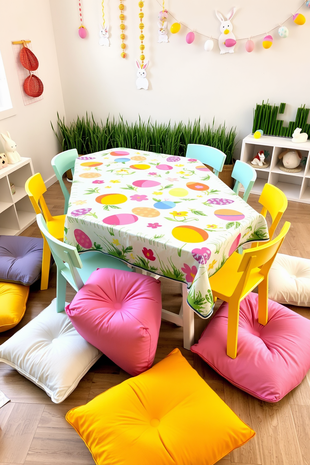
M234 252L210 280L213 296L228 302L227 355L235 359L240 301L258 285L258 322L268 321L268 273L290 229L286 221L280 234L267 244Z

